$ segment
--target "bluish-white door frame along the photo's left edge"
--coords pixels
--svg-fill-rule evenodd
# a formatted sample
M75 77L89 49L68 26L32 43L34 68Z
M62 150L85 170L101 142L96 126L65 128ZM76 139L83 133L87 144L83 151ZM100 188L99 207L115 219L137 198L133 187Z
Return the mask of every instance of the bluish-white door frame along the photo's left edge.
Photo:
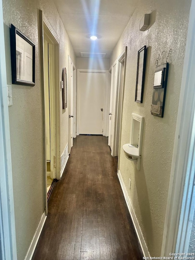
M17 260L2 0L0 30L0 258Z

